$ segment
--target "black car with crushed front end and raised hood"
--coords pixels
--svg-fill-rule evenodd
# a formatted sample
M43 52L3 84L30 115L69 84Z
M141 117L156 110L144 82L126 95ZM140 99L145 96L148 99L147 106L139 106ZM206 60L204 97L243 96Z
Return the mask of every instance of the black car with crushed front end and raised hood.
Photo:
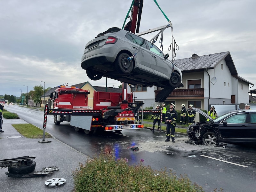
M189 140L207 146L217 146L219 142L256 144L256 110L230 111L213 120L200 109L193 109L209 121L189 125Z

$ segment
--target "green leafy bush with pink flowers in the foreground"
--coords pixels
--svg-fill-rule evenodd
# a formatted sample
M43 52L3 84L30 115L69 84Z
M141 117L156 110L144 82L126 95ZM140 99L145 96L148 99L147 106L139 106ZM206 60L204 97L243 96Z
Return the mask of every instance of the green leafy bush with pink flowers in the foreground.
M172 172L154 171L150 166L128 165L128 159L115 159L114 152L101 153L87 159L85 164L79 163L73 172L76 192L84 191L175 191L203 192L203 188L192 182L187 176L176 177Z

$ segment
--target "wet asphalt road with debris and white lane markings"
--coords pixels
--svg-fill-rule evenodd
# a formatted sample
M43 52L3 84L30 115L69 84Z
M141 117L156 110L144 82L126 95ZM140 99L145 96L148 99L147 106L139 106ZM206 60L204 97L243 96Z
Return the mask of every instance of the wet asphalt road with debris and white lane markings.
M43 128L43 111L15 105L6 109L17 113L28 123ZM224 188L225 192L252 192L256 188L254 147L231 144L226 148L191 145L185 143L188 139L183 135L176 135L175 143L164 142L165 133L149 129L86 135L83 131L76 132L69 123L55 125L53 116L48 116L46 131L87 156L114 149L116 157L126 157L130 164L138 164L140 159L144 159L144 165L150 165L153 169L166 167L176 172L177 176L187 174L192 183L203 186L205 191ZM132 151L132 146L140 150Z

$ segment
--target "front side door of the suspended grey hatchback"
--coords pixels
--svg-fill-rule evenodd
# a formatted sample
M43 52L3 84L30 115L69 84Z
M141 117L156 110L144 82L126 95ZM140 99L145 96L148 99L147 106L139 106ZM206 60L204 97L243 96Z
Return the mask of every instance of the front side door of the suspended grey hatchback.
M148 42L148 47L151 54L151 72L169 80L172 70L171 62L164 59L163 52L156 45Z

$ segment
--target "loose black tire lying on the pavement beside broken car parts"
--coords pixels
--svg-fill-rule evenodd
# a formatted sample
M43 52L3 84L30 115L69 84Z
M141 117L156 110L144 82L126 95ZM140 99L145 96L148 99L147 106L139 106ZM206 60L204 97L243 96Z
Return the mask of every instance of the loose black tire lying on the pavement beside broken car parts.
M28 174L35 170L36 162L33 160L23 160L12 162L12 166L8 167L9 173Z

